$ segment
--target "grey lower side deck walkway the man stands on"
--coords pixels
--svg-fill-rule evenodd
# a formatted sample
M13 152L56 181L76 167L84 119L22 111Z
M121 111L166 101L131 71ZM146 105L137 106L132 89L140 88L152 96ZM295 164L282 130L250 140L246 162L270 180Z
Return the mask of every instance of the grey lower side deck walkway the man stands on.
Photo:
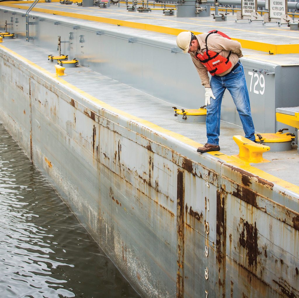
M7 40L5 44L1 45L15 51L45 70L55 73L54 64L48 61L48 51L20 39ZM184 124L176 121L176 117L173 117L171 103L159 100L80 65L77 68L68 69L65 73L67 76L62 77L63 80L115 108L148 120L200 144L206 142L205 123ZM200 104L203 103L204 98L202 98ZM238 154L238 146L233 140L233 135L243 135L242 127L221 121L220 130L219 145L221 151L218 152L216 157L221 159L223 154ZM171 146L171 143L169 146ZM299 165L297 149L294 148L285 152L267 152L264 153L264 158L270 160L271 163L255 164L254 166L277 178L299 186L299 177L294 175L294 166L298 167Z

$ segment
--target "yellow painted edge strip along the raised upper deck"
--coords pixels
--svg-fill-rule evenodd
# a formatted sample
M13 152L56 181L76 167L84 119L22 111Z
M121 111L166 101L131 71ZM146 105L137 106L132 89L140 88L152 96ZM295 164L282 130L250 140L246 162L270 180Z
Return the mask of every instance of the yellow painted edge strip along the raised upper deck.
M19 7L19 5L15 4L9 4L9 3L2 3L2 6L10 6L10 7ZM23 6L23 8L27 8ZM90 15L84 15L80 13L70 13L70 12L64 12L64 11L58 11L58 10L50 10L45 8L37 8L34 7L32 10L42 12L42 13L50 13L57 16L67 16L71 18L76 19L84 19L94 22L101 22L111 25L120 25L124 27L130 27L135 29L141 29L141 30L147 30L152 32L158 32L158 33L165 33L170 35L178 35L181 32L188 31L183 29L177 29L177 28L169 28L164 26L157 26L157 25L151 25L151 24L144 24L144 23L137 23L137 22L130 22L130 21L122 21L118 19L110 19L110 18L104 18L99 16L90 16ZM194 34L201 34L202 32L196 32L193 31ZM262 52L270 52L273 54L299 54L299 44L295 45L273 45L269 43L264 42L255 42L255 41L249 41L245 39L237 39L232 38L233 40L236 40L241 43L242 48L255 50L255 51L262 51Z

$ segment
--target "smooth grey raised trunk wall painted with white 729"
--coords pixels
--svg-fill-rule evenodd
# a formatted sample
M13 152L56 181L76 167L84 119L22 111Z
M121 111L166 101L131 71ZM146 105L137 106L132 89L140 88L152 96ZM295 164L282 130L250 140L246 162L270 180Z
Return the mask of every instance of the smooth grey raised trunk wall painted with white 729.
M19 19L18 27L14 25L11 30L22 38L25 18L0 10L1 20L11 16L18 16ZM79 59L80 65L174 105L199 107L198 98L204 97L204 88L196 88L200 86L199 76L189 55L183 54L176 48L176 44L140 36L140 33L133 35L115 30L99 30L94 26L76 26L73 20L57 21L58 18L54 16L33 17L32 14L31 19L37 25L30 28L30 36L34 37L31 42L48 49L49 54L57 51L57 36L60 35L61 53L69 55L69 59ZM292 61L291 57L283 58L283 55L261 59L258 52L256 56L247 56L241 58L241 61L255 129L257 132L276 132L281 127L276 127L275 108L285 106L285 98L288 98L289 106L298 105L298 56ZM221 115L222 120L241 125L228 91L224 95L222 111L225 111ZM290 131L295 132L292 128Z

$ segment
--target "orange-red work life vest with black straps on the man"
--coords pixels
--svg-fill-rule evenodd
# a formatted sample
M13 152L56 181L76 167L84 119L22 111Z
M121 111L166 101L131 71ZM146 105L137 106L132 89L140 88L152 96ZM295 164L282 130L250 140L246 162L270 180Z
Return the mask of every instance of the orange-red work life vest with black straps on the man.
M231 39L228 37L226 34L217 31L217 30L212 30L208 32L209 34L206 36L205 42L206 42L206 47L207 50L204 52L204 54L196 54L195 58L199 60L209 71L209 73L214 76L215 74L222 74L223 72L227 71L228 69L231 68L231 61L229 61L229 56L231 56L231 51L229 51L228 56L225 58L219 53L216 53L214 51L210 51L208 49L207 45L207 40L208 36L210 36L213 33L218 33L219 35Z

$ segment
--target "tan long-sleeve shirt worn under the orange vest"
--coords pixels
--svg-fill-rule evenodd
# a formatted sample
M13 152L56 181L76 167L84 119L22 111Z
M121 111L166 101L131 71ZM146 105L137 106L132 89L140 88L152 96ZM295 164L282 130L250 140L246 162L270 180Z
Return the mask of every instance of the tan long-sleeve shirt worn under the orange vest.
M203 52L206 51L206 43L205 38L208 35L208 33L203 33L196 35L196 38L199 42L200 49L197 51L197 53L200 53L203 55ZM217 33L210 34L207 41L208 49L210 51L214 51L216 53L220 53L221 56L227 57L229 54L229 51L231 51L231 56L229 57L229 61L231 61L231 68L227 71L223 72L222 74L218 74L218 76L222 77L225 74L228 74L231 69L234 67L234 65L238 62L239 58L242 57L242 48L241 44L237 42L236 40L228 39L226 37L223 37ZM190 52L190 56L192 58L192 61L196 67L196 70L200 76L200 79L202 80L202 85L205 87L210 88L210 78L208 76L208 70L205 68L202 63L195 58L195 54ZM217 76L217 74L216 74Z

